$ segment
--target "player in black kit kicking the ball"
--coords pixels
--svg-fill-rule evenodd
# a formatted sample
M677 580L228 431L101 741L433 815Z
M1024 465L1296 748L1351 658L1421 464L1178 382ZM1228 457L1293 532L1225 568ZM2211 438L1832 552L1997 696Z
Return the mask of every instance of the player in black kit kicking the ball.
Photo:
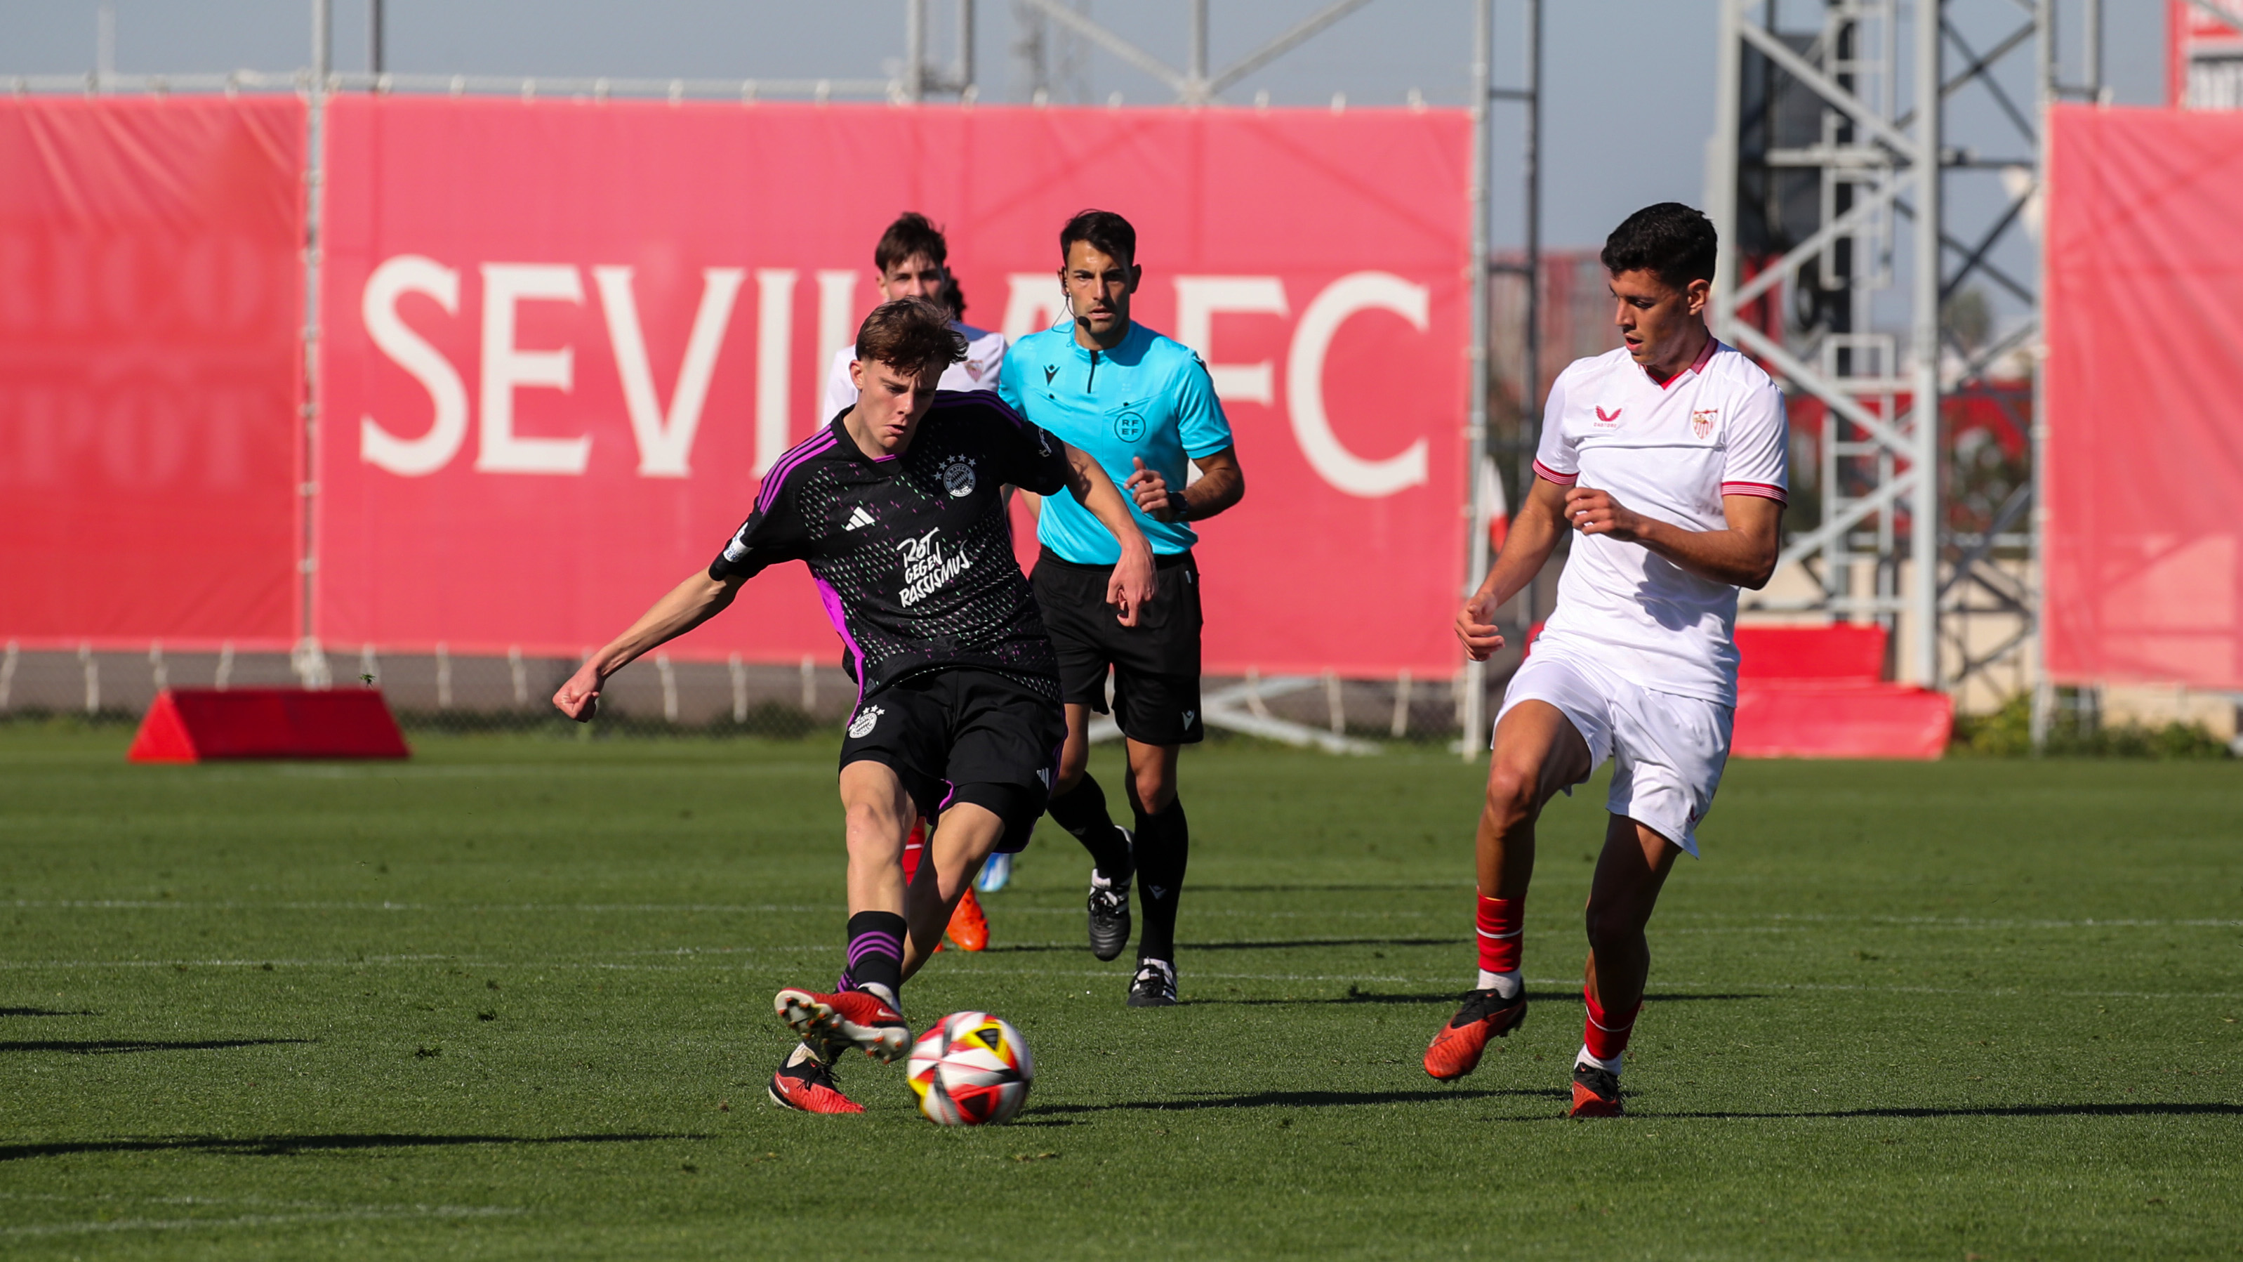
M848 647L857 712L841 743L848 966L834 993L774 997L803 1042L772 1076L772 1100L803 1112L864 1112L834 1085L834 1055L904 1055L904 979L942 941L982 860L1027 844L1052 790L1065 739L1059 662L1012 555L1003 487L1072 492L1122 539L1106 600L1124 627L1153 595L1153 550L1097 460L994 393L935 391L964 350L920 299L866 317L850 366L857 406L772 465L709 573L677 584L554 694L561 712L590 719L599 685L626 662L720 613L767 566L810 566ZM904 838L920 815L935 833L906 887Z

